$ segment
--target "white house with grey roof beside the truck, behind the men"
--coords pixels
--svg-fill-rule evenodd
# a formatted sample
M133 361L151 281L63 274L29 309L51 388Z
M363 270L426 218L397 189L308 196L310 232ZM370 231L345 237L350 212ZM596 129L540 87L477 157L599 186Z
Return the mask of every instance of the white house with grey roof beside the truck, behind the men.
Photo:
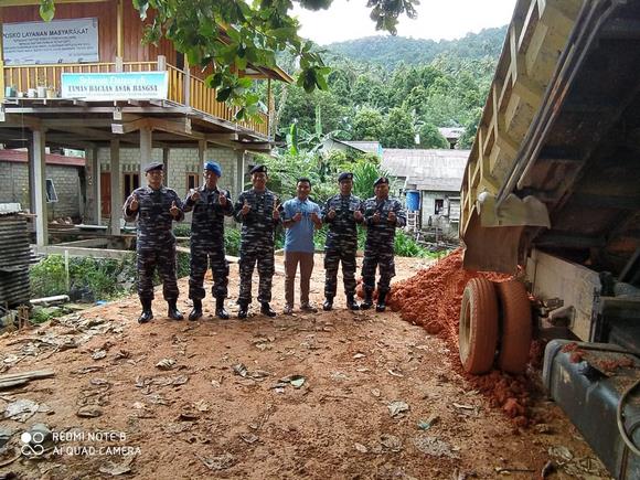
M470 150L384 149L382 168L407 191L419 192L419 223L457 235L460 186Z

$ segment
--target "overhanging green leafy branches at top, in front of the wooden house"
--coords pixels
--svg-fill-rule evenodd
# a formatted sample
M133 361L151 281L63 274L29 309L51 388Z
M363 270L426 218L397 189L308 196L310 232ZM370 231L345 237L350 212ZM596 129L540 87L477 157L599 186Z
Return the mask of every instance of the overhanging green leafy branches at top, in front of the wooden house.
M291 17L289 0L131 0L142 21L149 19L145 40L166 38L191 65L211 66L206 85L216 88L218 102L238 107L236 118L258 114L258 96L252 81L243 76L248 66L276 66L276 54L289 52L300 67L296 84L307 93L327 89L331 72L321 51L298 35L299 23ZM332 0L299 0L309 10L327 9ZM376 29L395 34L397 19L416 17L417 0L369 0ZM55 0L40 0L40 14L51 21Z

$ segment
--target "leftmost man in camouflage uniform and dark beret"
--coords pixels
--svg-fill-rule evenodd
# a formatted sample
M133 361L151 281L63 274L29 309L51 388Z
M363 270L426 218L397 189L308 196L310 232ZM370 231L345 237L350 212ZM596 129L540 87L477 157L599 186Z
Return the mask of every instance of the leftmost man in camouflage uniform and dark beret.
M169 305L169 318L182 320L178 310L178 280L175 278L175 237L172 222L184 218L182 201L178 194L162 185L162 163L152 162L145 169L148 186L140 186L126 200L122 206L125 220L138 218L138 296L142 303L139 323L153 318L153 271L162 278L162 294Z

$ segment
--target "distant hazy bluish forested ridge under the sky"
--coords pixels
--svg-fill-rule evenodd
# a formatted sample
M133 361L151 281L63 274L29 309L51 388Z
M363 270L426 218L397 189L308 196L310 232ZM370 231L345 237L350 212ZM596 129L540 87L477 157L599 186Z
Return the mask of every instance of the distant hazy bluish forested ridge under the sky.
M468 33L458 40L406 39L403 36L367 36L348 42L331 43L324 47L351 60L371 62L393 70L397 64L429 64L438 55L457 56L468 60L482 57L498 58L506 25L484 29L480 33Z

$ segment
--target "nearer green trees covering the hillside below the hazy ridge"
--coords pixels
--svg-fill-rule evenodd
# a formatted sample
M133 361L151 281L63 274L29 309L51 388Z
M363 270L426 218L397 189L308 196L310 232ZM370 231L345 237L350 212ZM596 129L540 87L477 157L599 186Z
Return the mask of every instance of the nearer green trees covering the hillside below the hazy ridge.
M476 36L478 41L480 38ZM478 47L468 39L460 42L466 42L466 50L472 52L497 51L502 39L495 38L490 47L487 39ZM448 45L451 51L460 50L456 42ZM324 132L341 140L378 140L386 148L448 148L437 127L463 127L469 134L459 146L468 147L498 61L497 56L442 53L429 64L402 58L395 68L387 68L331 52L326 57L333 66L327 92L309 96L295 85L279 87L287 90L286 95L276 95L284 114L280 125L297 120L310 129L314 108L321 105Z

